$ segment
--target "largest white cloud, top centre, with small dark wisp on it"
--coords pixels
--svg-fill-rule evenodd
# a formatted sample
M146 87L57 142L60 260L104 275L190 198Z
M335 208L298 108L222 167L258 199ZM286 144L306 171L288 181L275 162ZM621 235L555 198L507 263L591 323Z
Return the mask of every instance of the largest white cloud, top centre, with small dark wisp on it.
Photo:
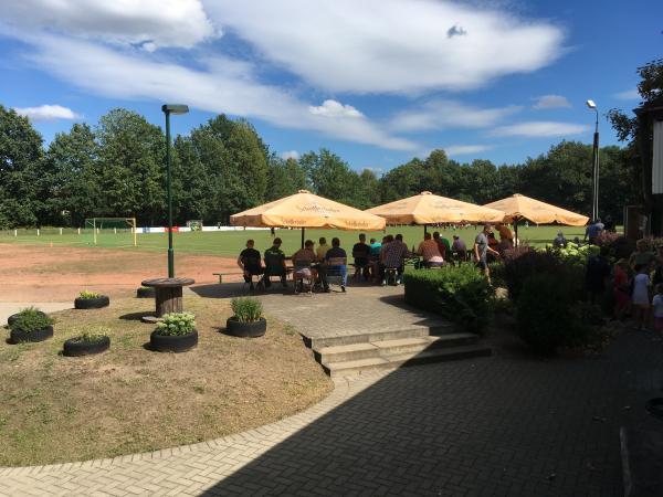
M203 0L217 25L334 92L470 89L562 52L549 22L438 0ZM449 25L464 35L448 36ZM460 28L459 28L460 29Z

